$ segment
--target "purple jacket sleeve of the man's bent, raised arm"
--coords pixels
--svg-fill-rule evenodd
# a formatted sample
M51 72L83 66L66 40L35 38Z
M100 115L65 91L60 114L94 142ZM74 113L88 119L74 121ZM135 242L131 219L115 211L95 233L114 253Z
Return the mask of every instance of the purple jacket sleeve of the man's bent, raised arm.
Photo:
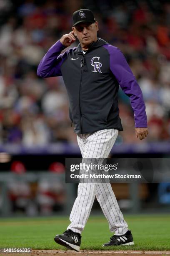
M64 60L64 54L60 54L60 52L65 48L60 40L51 46L38 65L37 75L39 77L57 77L62 75L60 67Z

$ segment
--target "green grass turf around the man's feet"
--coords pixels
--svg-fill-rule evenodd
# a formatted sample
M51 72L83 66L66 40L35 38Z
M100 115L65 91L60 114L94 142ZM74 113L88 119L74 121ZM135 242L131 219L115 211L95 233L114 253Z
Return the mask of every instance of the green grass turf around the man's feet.
M135 246L108 250L170 250L170 215L130 215L125 220L133 231ZM68 218L57 216L0 219L0 248L64 249L53 238L68 224ZM82 233L81 249L103 250L101 245L112 235L104 217L92 216Z

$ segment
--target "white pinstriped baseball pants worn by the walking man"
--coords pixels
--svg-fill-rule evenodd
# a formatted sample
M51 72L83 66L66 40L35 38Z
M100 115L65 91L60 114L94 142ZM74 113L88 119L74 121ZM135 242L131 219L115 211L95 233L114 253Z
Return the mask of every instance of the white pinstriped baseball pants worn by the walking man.
M118 130L104 129L91 134L77 134L77 141L82 159L107 158L118 135ZM95 200L107 218L111 232L123 235L128 231L128 224L123 218L110 183L79 183L77 198L70 214L67 229L80 233L85 227Z

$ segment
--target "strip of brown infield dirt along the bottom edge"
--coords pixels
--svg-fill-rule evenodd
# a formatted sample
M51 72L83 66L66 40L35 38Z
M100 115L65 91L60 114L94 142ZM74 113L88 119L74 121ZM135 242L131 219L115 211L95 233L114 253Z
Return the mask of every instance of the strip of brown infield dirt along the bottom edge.
M71 250L67 251L59 251L59 250L32 250L31 253L2 253L1 255L10 255L10 256L92 256L94 254L95 256L110 256L110 255L115 255L115 256L140 256L140 254L145 254L145 256L163 256L170 254L170 251L86 251L86 250L81 250L80 252L75 252Z

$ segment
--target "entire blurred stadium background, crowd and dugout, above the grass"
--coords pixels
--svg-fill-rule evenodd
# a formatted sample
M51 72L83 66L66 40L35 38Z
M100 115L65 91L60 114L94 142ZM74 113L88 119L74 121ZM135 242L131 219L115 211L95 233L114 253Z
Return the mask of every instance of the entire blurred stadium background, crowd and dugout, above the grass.
M110 156L170 155L169 1L0 0L1 215L68 213L75 199L76 186L63 178L65 158L81 156L63 79L41 79L36 71L50 46L72 30L72 13L80 8L95 14L98 37L124 53L146 104L149 136L139 141L120 89L124 131ZM127 211L169 209L170 184L114 184L113 190ZM98 211L96 202L93 208Z

